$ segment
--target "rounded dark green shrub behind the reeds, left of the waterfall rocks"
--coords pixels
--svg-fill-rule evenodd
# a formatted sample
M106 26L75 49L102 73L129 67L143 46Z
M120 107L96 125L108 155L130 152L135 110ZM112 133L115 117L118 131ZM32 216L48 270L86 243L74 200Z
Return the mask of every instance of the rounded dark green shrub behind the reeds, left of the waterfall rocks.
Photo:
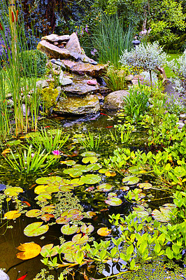
M43 76L46 71L47 55L41 50L20 52L20 72L22 76Z

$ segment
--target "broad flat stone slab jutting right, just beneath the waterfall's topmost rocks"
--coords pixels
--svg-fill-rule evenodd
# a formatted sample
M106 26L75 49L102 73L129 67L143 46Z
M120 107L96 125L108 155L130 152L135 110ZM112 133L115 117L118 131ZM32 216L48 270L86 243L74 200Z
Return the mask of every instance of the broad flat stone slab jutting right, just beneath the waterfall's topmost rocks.
M73 73L77 73L78 75L88 75L92 77L101 76L101 74L106 71L106 64L97 64L92 65L89 63L76 63L75 66L71 67L71 71Z

